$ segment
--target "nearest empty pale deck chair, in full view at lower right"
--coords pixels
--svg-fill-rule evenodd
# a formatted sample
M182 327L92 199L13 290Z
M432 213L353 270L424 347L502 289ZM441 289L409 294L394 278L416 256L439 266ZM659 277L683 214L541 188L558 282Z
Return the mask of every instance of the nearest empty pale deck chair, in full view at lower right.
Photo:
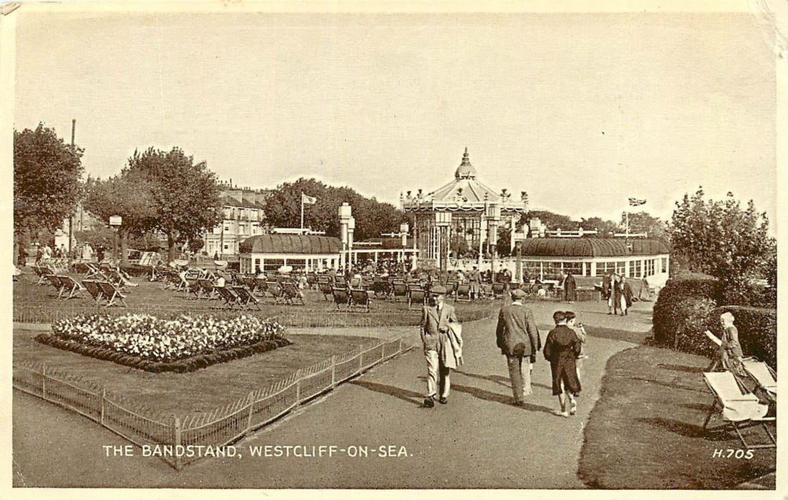
M746 390L738 383L730 371L716 371L703 374L704 381L708 389L714 394L712 409L708 412L706 421L703 423L704 431L719 431L726 428L733 428L742 441L742 445L748 450L751 448L775 448L777 442L775 436L771 434L766 422L775 421L775 417L768 417L769 405L761 403L758 397ZM721 412L723 424L709 428L708 423L716 412ZM771 440L771 444L749 444L742 435L742 429L750 426L762 427Z

